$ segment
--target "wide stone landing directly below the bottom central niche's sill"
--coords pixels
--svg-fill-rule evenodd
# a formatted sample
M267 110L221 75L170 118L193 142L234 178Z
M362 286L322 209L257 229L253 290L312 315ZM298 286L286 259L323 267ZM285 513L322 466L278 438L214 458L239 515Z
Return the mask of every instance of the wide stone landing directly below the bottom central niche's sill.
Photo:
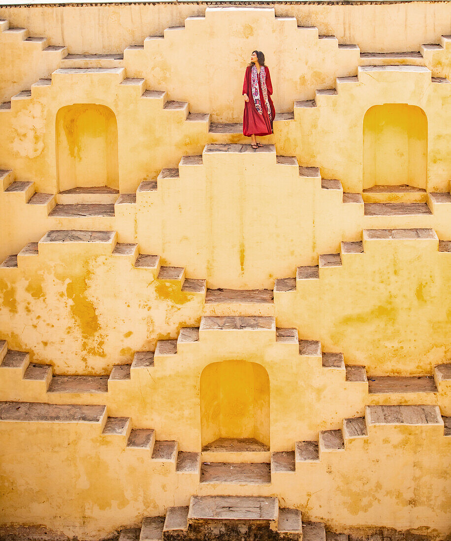
M268 463L202 463L201 484L266 485L271 483Z

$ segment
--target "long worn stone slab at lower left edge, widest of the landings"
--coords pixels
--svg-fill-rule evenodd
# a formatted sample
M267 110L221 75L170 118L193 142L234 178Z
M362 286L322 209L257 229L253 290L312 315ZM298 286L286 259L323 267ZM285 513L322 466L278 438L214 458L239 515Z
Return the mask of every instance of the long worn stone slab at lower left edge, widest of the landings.
M94 423L107 418L106 406L44 404L38 402L0 402L0 420L24 423Z

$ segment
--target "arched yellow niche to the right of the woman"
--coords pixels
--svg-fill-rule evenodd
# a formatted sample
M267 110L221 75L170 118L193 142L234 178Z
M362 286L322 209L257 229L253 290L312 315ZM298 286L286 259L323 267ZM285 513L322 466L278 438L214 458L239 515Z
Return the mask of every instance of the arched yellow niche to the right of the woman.
M426 189L428 121L416 105L384 103L363 119L363 189L407 184Z

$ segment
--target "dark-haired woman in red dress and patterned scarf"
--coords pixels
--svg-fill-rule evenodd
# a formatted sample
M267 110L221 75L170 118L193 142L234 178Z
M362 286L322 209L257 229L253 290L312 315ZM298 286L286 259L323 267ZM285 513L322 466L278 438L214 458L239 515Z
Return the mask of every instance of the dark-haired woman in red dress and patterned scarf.
M271 94L271 77L269 69L265 66L265 55L262 51L253 51L243 83L245 101L243 135L251 137L254 149L263 147L263 144L257 142L256 135L272 134L272 122L276 111Z

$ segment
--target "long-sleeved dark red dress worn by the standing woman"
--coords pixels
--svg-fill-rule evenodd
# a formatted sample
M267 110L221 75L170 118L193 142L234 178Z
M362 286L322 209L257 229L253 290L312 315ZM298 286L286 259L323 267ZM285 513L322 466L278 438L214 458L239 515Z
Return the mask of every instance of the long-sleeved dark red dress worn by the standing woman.
M260 103L262 104L262 114L258 113L257 109L255 108L251 87L251 66L247 66L243 83L243 94L247 94L247 97L249 97L249 102L244 102L243 114L243 135L245 135L246 137L250 137L252 134L259 136L272 134L272 121L274 120L274 116L276 115L276 110L274 109L274 104L271 100L272 84L269 69L266 66L264 68L266 71L266 89L268 93L268 101L271 108L271 118L269 117L265 107L260 77L258 77L258 88L260 90Z

